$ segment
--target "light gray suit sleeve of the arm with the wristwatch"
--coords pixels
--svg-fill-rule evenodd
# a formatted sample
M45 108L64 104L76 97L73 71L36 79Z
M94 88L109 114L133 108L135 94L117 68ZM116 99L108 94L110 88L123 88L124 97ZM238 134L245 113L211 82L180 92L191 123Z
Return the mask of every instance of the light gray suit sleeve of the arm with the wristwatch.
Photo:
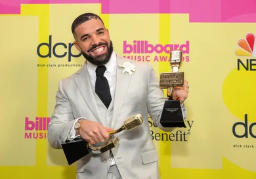
M74 138L74 119L68 96L62 89L62 81L58 84L56 93L56 104L53 115L49 123L47 138L52 148L61 148L61 144L66 140Z

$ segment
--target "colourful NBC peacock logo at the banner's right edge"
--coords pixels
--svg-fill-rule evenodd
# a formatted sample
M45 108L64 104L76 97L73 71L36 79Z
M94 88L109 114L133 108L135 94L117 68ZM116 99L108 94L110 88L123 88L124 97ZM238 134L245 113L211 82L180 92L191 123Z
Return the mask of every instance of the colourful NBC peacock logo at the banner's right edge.
M256 41L253 33L247 33L245 38L239 39L238 46L235 50L236 56L256 56Z

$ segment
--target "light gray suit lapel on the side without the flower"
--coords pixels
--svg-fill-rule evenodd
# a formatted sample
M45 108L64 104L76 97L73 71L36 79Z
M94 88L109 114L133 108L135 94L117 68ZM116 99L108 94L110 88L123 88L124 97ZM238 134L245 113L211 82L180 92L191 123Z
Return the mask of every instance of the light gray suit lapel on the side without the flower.
M79 75L77 75L75 78L75 83L81 95L83 96L83 100L85 100L87 106L91 109L97 121L104 123L105 121L102 121L102 117L100 116L100 111L98 110L98 105L95 100L95 95L93 94L86 64L83 69L78 72L78 74Z

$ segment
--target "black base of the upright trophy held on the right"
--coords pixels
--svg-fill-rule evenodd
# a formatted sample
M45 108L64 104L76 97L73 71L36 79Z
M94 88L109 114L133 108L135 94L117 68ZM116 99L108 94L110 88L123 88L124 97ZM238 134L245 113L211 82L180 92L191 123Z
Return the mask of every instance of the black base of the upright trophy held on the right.
M160 123L163 127L186 127L179 100L166 100Z

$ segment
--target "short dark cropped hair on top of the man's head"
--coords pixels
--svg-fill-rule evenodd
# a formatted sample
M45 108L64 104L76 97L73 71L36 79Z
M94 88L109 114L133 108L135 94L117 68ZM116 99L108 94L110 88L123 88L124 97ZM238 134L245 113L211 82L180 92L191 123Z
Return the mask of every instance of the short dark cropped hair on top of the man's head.
M75 28L77 28L77 26L79 26L83 22L86 22L91 19L99 19L104 26L104 22L100 18L100 16L93 14L91 12L84 13L84 14L81 14L80 16L78 16L77 18L75 18L74 22L72 23L71 30L72 30L73 35L75 34Z

